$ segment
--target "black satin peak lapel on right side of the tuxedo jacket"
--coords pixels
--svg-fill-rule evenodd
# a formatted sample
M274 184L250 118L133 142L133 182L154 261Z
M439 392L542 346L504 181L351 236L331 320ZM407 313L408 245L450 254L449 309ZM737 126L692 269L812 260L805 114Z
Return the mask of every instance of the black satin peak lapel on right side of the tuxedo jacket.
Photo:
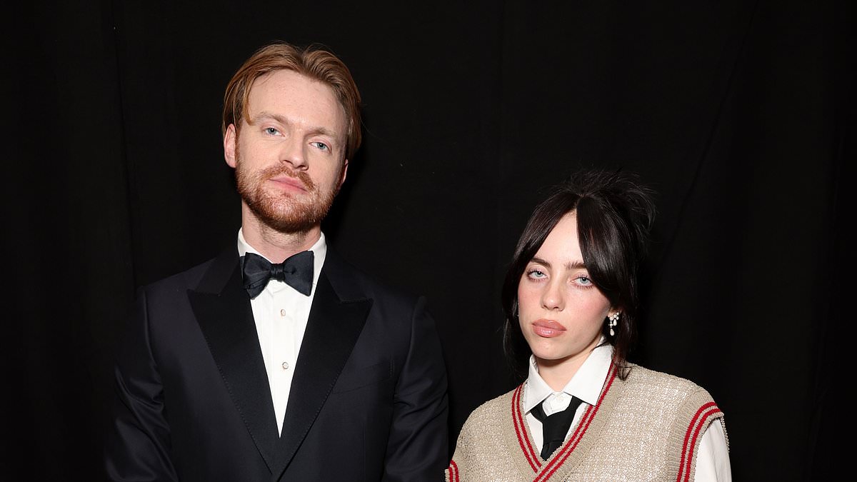
M326 268L328 261L325 262ZM283 436L277 449L280 459L275 479L282 476L289 466L321 412L363 331L371 306L372 300L367 298L340 300L333 291L326 270L322 269L315 286L315 298L303 334L295 377L291 382L292 396L285 411Z

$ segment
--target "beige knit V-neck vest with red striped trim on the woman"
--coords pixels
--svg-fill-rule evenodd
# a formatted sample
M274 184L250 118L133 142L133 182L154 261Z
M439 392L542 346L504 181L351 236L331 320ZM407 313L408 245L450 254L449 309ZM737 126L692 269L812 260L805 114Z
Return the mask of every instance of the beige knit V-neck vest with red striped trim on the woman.
M699 439L711 420L723 423L723 413L698 385L631 366L625 381L610 370L596 406L548 461L521 409L526 383L485 402L458 435L446 481L692 482Z

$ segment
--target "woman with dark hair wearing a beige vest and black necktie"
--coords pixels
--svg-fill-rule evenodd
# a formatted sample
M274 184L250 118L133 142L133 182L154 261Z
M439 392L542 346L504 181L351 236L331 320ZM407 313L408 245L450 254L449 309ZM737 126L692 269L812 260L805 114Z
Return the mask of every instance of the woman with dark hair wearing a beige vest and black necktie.
M447 481L732 479L709 393L626 359L654 214L626 172L580 172L536 207L502 293L527 378L470 414Z

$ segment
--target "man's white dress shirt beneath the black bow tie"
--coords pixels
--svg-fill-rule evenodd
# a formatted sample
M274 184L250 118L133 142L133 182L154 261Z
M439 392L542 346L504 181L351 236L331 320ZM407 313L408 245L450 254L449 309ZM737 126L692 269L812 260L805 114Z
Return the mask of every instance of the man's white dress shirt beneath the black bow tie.
M301 351L303 332L309 320L309 308L315 298L315 285L327 256L327 242L323 232L321 238L309 250L313 251L313 287L309 296L297 292L283 281L270 280L265 290L250 300L268 384L271 387L278 434L283 431L283 419L285 408L289 405L291 378L295 373L297 354ZM247 244L243 231L239 229L238 255L244 256L245 253L262 256L253 246Z

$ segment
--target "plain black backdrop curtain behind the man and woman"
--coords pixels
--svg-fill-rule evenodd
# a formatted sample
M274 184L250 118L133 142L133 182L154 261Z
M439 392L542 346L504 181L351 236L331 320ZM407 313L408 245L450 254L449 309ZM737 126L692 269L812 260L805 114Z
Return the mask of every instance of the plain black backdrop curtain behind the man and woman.
M273 39L327 45L361 88L365 142L323 226L351 262L428 296L453 443L517 383L499 288L524 221L548 184L602 166L658 192L632 360L709 389L736 480L826 479L847 461L851 3L36 0L3 14L0 473L101 477L135 288L235 242L222 93Z

